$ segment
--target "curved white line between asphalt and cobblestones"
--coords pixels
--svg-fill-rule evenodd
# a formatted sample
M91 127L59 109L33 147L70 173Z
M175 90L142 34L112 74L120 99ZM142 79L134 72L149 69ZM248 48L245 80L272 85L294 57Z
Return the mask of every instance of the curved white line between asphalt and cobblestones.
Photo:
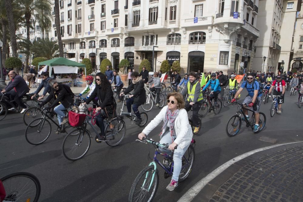
M255 154L259 151L264 151L267 149L271 149L274 147L278 147L278 146L282 146L282 145L286 145L286 144L294 144L294 143L300 143L303 141L299 141L299 142L290 142L290 143L284 143L284 144L276 144L276 145L272 145L272 146L267 146L267 147L263 147L263 148L259 148L259 149L255 149L249 152L246 152L245 154L241 154L240 156L237 156L229 161L227 161L225 164L221 165L220 167L218 167L217 169L215 169L214 171L212 171L210 174L208 174L207 176L205 176L204 178L202 178L200 181L197 182L197 184L195 184L193 187L191 187L179 200L178 202L188 202L191 201L195 198L195 196L205 187L205 185L207 185L211 180L213 180L215 177L217 177L219 174L221 174L223 171L225 171L228 167L230 167L232 164L234 164L237 161L240 161L252 154Z

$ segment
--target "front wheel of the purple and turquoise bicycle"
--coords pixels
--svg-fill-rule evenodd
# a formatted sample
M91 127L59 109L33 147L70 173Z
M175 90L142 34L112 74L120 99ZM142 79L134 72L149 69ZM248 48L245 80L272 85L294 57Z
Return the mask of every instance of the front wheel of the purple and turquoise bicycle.
M128 201L152 201L159 185L158 170L154 166L144 168L136 177Z

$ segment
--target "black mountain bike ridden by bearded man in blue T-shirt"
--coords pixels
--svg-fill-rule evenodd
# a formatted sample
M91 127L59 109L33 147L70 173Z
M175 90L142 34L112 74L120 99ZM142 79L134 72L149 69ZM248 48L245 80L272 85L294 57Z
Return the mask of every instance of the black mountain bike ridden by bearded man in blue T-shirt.
M236 134L239 133L240 129L241 129L241 124L242 124L242 120L241 120L241 115L243 115L244 117L244 121L246 123L246 127L251 127L251 130L254 130L254 126L256 123L255 120L255 112L246 108L247 105L246 104L240 104L238 102L236 102L236 104L238 104L238 111L236 112L235 115L233 115L227 122L226 125L226 133L229 137L233 137ZM246 115L244 114L243 108L246 108L246 110L251 111L252 115L250 120L248 120L248 118L246 117ZM259 130L254 132L254 133L258 133L261 132L266 124L266 116L264 113L259 112L260 114L260 120L259 120Z

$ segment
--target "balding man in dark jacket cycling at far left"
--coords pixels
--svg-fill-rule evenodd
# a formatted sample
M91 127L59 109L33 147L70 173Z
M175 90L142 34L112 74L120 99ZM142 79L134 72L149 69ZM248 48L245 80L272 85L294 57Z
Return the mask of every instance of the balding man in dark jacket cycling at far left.
M17 75L15 71L10 71L8 75L12 78L12 80L7 84L5 89L2 89L1 92L6 92L6 95L8 95L11 101L14 100L21 108L23 108L21 111L23 114L27 107L21 99L23 95L29 92L29 88L25 80L20 75ZM9 110L15 110L15 107Z

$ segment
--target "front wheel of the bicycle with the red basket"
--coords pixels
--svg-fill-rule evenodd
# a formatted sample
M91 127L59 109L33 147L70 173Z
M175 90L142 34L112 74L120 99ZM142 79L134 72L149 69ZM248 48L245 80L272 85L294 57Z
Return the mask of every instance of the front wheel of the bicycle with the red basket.
M72 133L78 135L71 135ZM88 130L75 129L67 134L62 143L62 153L70 161L76 161L85 156L91 146L91 135Z

